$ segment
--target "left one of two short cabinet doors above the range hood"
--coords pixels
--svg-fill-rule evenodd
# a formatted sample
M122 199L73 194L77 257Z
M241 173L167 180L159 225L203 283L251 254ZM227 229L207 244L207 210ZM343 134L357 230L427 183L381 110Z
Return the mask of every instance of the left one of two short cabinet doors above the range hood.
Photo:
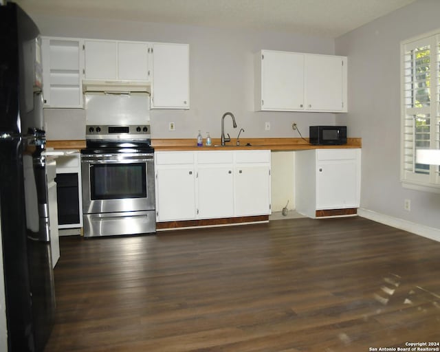
M116 80L118 78L118 43L85 41L85 78Z

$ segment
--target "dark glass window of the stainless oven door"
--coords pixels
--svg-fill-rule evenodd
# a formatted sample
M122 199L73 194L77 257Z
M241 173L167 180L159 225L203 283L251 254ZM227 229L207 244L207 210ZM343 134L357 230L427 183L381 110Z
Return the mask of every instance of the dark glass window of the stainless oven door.
M146 197L146 164L92 164L92 200Z

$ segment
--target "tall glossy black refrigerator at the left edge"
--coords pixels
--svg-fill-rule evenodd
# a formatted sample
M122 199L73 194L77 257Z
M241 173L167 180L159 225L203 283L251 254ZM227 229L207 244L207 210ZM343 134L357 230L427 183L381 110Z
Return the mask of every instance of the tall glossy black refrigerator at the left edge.
M55 313L45 173L41 39L0 5L0 230L8 351L43 351Z

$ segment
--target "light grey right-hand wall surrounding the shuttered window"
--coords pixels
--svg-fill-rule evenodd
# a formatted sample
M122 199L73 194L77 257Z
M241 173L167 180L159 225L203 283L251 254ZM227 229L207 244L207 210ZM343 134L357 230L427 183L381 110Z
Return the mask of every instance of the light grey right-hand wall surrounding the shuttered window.
M362 137L361 207L437 229L440 195L400 184L399 50L404 39L440 28L439 14L440 1L419 0L336 39L336 54L349 58L349 113L336 121Z

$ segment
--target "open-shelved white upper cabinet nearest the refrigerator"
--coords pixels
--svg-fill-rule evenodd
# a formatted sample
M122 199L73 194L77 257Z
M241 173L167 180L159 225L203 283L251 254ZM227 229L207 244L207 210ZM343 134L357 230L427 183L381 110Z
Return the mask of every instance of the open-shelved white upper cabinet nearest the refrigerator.
M83 40L42 37L45 108L83 107Z

